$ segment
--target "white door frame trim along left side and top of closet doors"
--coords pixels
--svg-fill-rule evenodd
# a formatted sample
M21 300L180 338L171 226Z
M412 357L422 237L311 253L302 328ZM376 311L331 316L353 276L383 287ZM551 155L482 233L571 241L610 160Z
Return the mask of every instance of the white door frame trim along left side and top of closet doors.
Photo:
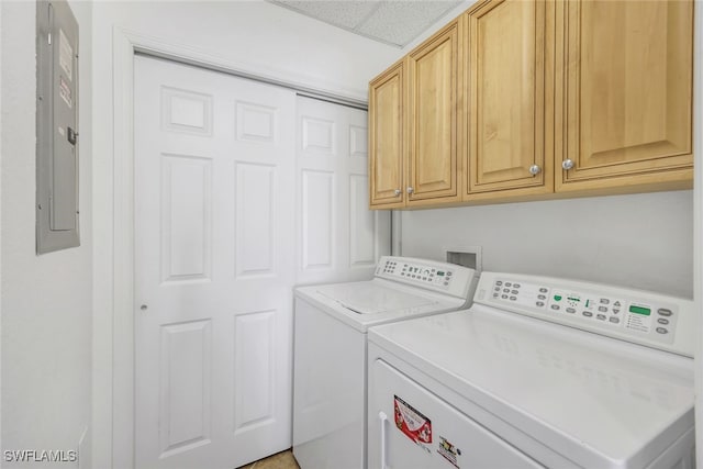
M94 230L111 236L93 265L92 464L134 468L134 56L167 58L297 90L301 94L366 108L358 97L298 81L286 71L271 75L244 63L224 60L115 26L112 32L112 152L96 172L96 188L108 190L111 206L94 212Z

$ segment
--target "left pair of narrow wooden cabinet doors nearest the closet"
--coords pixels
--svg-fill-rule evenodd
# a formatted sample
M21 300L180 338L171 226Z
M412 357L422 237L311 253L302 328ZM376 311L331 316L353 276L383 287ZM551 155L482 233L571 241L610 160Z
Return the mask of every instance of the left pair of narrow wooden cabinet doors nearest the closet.
M460 30L453 21L371 81L371 208L461 199Z

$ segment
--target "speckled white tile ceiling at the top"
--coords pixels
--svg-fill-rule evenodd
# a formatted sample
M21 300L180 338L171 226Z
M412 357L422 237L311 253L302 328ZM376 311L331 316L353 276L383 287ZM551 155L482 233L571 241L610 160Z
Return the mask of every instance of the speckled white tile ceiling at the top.
M403 47L462 0L268 1L383 44Z

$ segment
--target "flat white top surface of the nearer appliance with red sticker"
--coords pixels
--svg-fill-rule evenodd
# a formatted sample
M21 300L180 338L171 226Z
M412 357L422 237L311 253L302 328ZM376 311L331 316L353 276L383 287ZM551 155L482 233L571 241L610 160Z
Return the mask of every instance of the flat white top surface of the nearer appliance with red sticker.
M369 340L580 467L645 467L693 426L693 360L673 354L483 305Z

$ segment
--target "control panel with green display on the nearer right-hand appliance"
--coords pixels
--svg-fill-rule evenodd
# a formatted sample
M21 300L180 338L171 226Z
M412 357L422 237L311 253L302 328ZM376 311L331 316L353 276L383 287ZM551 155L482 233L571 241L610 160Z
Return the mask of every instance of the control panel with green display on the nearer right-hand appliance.
M650 346L673 346L677 334L685 335L679 322L692 304L596 283L492 272L481 276L475 301Z

